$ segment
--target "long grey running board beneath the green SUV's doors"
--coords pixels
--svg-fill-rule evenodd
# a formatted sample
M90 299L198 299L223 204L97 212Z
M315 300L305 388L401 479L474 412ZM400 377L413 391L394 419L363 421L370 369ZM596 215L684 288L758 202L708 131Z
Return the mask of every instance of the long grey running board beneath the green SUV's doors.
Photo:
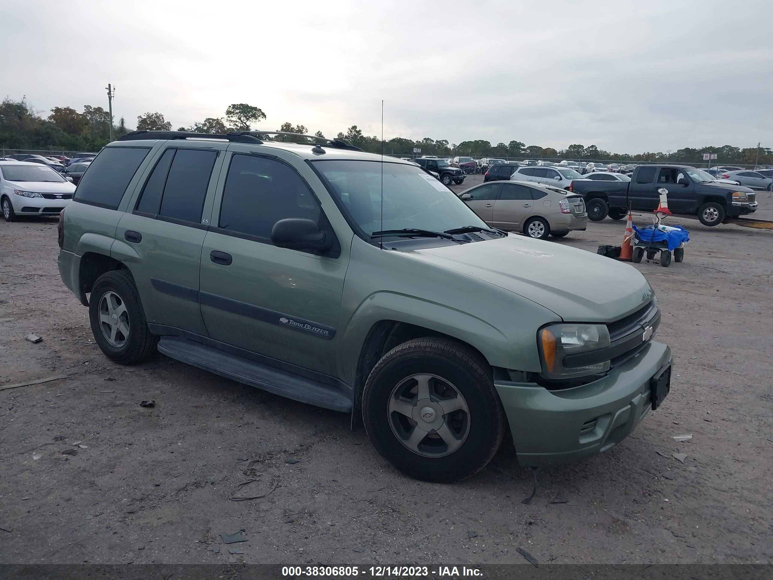
M210 373L219 374L226 379L236 380L301 403L345 413L352 411L352 401L335 387L267 367L189 339L164 336L158 341L158 352L181 363L209 370Z

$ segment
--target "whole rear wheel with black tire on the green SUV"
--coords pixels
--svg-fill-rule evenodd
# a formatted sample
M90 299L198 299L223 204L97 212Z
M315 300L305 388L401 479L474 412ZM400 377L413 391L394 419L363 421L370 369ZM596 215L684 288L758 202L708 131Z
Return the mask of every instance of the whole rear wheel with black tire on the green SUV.
M135 282L124 271L105 272L94 282L89 319L94 340L110 360L134 364L155 354L158 336L148 330Z

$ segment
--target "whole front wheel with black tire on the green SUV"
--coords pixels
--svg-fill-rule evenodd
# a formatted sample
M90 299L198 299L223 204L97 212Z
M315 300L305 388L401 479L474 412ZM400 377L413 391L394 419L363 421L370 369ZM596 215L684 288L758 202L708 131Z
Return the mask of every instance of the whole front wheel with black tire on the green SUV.
M505 432L491 370L450 339L396 346L376 363L363 392L373 446L407 476L453 482L483 469Z

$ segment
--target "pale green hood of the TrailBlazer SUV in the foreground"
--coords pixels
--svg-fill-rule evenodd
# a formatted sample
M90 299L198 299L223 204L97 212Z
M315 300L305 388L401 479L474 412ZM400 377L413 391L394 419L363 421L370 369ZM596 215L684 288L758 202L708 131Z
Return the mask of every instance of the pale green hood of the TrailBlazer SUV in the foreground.
M654 295L644 276L628 264L514 234L414 250L410 255L505 288L568 322L609 322Z

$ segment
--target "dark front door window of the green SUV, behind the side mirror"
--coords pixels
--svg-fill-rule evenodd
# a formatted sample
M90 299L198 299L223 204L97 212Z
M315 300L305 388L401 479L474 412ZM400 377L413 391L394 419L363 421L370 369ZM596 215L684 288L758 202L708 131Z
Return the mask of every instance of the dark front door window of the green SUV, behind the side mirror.
M231 158L218 227L270 240L279 220L319 223L321 213L311 189L288 165L252 155Z

